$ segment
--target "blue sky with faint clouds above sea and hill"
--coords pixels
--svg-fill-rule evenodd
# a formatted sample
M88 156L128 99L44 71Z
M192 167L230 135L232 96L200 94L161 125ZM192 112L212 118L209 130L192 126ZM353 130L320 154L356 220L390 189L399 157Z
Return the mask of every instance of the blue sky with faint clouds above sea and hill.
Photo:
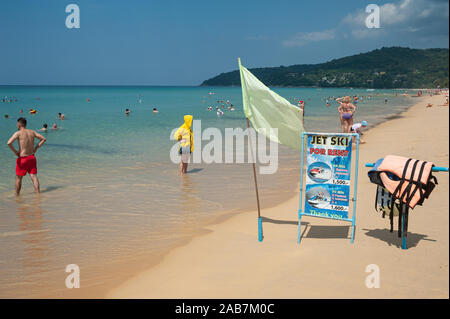
M68 4L80 28L65 26ZM365 7L380 6L380 29ZM448 48L447 0L1 1L0 85L199 85L382 46Z

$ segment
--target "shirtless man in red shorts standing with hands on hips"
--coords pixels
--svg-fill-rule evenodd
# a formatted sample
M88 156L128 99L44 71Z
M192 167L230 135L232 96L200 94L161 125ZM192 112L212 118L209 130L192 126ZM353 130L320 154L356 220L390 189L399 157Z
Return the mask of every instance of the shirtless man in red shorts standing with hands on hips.
M22 178L30 174L31 180L33 181L34 190L37 194L40 193L39 180L37 178L37 165L36 157L34 154L46 141L45 137L41 134L29 130L27 127L27 120L23 117L17 120L18 131L11 136L8 141L8 146L17 156L16 160L16 195L20 194L20 189L22 188ZM34 146L34 139L39 140L39 144ZM19 151L13 146L15 140L18 140Z

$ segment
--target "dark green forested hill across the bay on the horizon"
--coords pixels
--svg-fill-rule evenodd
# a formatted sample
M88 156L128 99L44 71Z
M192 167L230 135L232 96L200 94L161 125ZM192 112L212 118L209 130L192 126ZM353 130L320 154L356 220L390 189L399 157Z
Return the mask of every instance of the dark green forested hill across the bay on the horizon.
M250 71L268 86L447 88L448 69L448 49L383 47L326 63ZM239 71L222 73L201 85L240 86Z

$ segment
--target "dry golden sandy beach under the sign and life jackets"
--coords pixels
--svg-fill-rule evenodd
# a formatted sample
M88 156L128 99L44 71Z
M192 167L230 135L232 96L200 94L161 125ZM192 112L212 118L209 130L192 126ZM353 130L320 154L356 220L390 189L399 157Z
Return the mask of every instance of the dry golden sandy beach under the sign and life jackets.
M262 207L210 225L202 235L166 254L158 264L111 290L108 298L448 298L449 176L410 213L408 249L375 212L376 186L364 163L388 154L449 166L449 109L444 96L422 97L364 135L355 242L348 223L302 218L297 244L298 192L280 205ZM427 103L434 106L426 108ZM253 201L254 198L249 198ZM379 266L380 287L369 289L366 267Z

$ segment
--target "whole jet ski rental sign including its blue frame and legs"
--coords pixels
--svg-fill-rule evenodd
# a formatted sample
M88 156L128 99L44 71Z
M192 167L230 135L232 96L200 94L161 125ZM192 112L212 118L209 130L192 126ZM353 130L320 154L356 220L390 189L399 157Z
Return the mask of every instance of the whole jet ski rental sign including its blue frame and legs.
M354 178L352 179L353 140L356 142L356 155ZM300 229L301 217L314 216L351 222L351 242L353 243L358 181L359 135L356 133L303 132L301 145L298 242L300 243L302 236ZM306 166L303 165L305 157ZM354 183L353 196L350 194L352 183ZM305 187L303 184L305 184ZM349 218L351 201L353 201L353 210L351 218Z

